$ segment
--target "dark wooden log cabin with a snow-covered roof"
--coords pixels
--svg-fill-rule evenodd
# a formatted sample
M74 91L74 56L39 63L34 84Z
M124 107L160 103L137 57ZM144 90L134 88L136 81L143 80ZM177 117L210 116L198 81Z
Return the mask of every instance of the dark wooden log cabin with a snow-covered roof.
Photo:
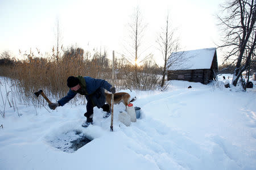
M167 65L167 80L185 80L203 84L217 80L216 48L172 53Z

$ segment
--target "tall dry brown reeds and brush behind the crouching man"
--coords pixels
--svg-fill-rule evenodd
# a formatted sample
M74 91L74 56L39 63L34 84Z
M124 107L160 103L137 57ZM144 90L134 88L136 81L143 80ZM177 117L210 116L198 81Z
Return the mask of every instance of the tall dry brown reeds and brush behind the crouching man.
M135 83L134 68L122 59L115 61L115 86L120 88L131 88L137 90L154 90L160 85L160 79L156 69L152 66L143 65L139 67L140 83ZM89 52L82 55L67 55L62 58L37 57L28 54L26 59L17 61L13 59L12 65L0 65L0 76L9 77L14 80L15 89L18 92L19 102L23 104L46 105L46 101L39 97L36 99L34 92L42 89L52 102L59 100L68 92L68 76L92 76L108 80L111 83L112 65L106 58L106 54L101 55ZM78 95L80 96L80 95ZM85 99L85 98L83 98ZM74 104L77 99L72 100Z

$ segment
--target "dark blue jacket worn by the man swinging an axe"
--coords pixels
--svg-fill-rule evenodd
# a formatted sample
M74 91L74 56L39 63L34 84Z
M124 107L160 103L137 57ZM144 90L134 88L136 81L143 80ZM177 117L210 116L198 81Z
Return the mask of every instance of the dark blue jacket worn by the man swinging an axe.
M79 84L81 86L80 90L75 92L69 89L68 94L57 102L63 106L68 103L69 100L73 99L77 93L79 93L81 95L85 95L88 101L91 100L94 106L101 108L106 102L104 88L110 92L110 87L112 87L112 85L106 80L94 79L90 76L77 76L77 78L79 78Z

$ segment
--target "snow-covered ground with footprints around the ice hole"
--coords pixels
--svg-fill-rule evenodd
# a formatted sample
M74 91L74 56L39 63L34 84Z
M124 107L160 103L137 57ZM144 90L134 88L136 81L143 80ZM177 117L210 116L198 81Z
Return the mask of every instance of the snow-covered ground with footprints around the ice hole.
M231 81L232 75L222 76ZM6 108L0 169L256 169L255 83L242 92L174 80L164 92L137 91L133 104L141 118L126 127L118 121L125 106L114 105L114 132L97 108L94 125L82 128L85 105L51 113L18 105L20 117ZM67 150L81 136L92 141Z

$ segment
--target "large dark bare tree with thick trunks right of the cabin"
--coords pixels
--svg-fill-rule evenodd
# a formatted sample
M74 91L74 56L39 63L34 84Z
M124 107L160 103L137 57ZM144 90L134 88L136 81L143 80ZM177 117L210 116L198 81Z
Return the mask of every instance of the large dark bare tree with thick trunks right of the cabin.
M227 50L225 61L233 59L232 63L236 63L232 80L234 86L237 86L239 78L242 78L242 72L248 69L255 54L255 2L256 0L226 1L222 6L223 14L217 16L224 36L219 47ZM242 84L246 90L243 78Z

